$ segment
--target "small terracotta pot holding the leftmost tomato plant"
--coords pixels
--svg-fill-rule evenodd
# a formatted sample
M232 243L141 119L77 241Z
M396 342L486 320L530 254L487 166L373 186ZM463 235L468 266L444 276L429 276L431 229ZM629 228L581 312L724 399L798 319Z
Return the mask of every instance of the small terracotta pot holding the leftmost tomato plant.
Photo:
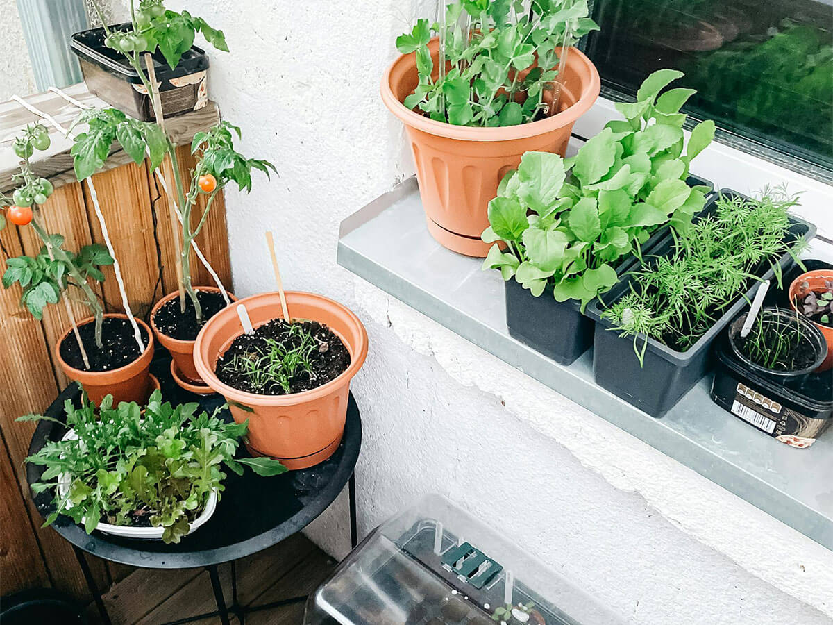
M122 313L110 313L104 315L104 318L120 318L127 319L127 315ZM89 317L78 323L78 327L93 323L95 318ZM87 392L87 397L96 405L100 405L105 395L112 395L112 403L117 406L121 402L136 402L144 403L152 391L150 376L151 360L153 358L153 334L147 323L142 319L137 318L136 323L145 329L147 333L147 345L142 355L134 360L132 363L112 369L111 371L82 371L70 367L67 362L61 358L61 344L67 340L72 328L68 328L67 332L63 333L61 340L55 345L55 358L57 362L61 363L63 373L67 374L67 378L81 383L84 390ZM69 340L75 340L69 338Z

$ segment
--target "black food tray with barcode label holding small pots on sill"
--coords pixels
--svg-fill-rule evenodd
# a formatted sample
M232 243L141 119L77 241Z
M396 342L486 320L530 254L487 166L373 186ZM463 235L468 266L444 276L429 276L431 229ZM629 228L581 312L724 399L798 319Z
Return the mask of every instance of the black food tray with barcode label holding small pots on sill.
M773 374L753 366L731 347L731 336L740 331L745 318L741 315L731 323L716 344L711 399L781 443L808 448L833 422L833 376L830 372ZM818 328L807 326L818 333L816 340L824 340Z

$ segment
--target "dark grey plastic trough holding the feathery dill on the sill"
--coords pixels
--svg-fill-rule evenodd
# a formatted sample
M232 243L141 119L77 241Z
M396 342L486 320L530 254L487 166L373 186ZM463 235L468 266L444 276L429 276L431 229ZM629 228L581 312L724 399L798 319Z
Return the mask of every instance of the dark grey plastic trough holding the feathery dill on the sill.
M748 199L730 189L723 189L721 193L724 196ZM715 197L707 204L702 215L714 210L714 200ZM790 237L793 239L810 239L816 234L816 227L811 223L792 216L790 222L792 224ZM666 256L671 253L673 246L673 238L669 235L656 246L651 255ZM655 261L649 260L647 265L651 266L653 262ZM790 254L784 254L779 259L782 271L790 268L793 263ZM768 280L774 275L775 271L767 268L766 272L759 277ZM628 276L617 283L610 292L603 296L605 302L608 305L616 303L630 292L632 281L633 277ZM653 338L648 338L642 366L634 351L634 338L621 338L619 333L611 330L611 322L601 318L601 313L606 306L598 300L591 302L587 306L587 314L596 320L593 352L593 376L596 383L615 394L616 397L650 414L651 417L661 417L706 375L711 366L711 343L721 330L726 328L731 320L746 307L747 302L751 301L757 285L757 282L751 283L746 293L737 298L726 313L686 352L678 352ZM638 348L642 348L645 340L644 335L637 336Z

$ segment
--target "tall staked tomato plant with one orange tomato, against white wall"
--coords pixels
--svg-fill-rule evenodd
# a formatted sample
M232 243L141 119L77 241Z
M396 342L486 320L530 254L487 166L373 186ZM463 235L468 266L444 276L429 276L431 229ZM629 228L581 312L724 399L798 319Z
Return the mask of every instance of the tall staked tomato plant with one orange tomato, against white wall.
M95 5L96 3L93 2ZM98 9L98 7L96 6ZM268 161L246 158L237 152L234 135L241 138L240 128L229 122L220 122L207 133L197 133L192 143L192 154L197 166L183 180L177 146L165 132L162 103L153 69L152 55L162 54L167 64L177 67L182 55L191 49L197 32L218 50L227 51L222 31L210 27L202 18L192 17L187 11L177 13L167 10L162 0L142 0L138 7L132 0L131 26L128 30L111 30L105 24L105 45L120 52L137 72L142 85L150 94L156 122L140 122L127 117L114 108L93 109L82 113L78 122L85 122L89 130L80 133L72 148L75 173L79 180L101 168L115 140L137 164L147 156L152 170L163 163L160 170L165 187L169 190L173 210L178 213L177 280L179 283L180 310L185 312L186 297L193 303L197 323L202 323L202 307L192 284L190 249L192 242L202 231L213 202L222 188L235 183L246 193L252 190L252 170L270 175L275 172ZM99 10L99 15L102 13ZM103 20L102 20L103 22ZM165 159L167 163L165 162ZM165 173L167 171L167 173ZM192 210L200 194L207 195L207 202L197 225L192 225Z

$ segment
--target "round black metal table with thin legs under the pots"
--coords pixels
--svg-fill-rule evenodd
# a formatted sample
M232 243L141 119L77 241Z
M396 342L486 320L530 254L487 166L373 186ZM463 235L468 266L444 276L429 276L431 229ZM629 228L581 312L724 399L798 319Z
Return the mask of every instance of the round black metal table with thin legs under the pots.
M165 401L177 403L200 403L202 408L213 411L223 405L219 395L202 397L182 390L172 383L167 373L167 358L154 360L152 371L162 384ZM67 399L77 403L81 398L77 385L72 383L52 402L46 415L59 421L65 420L64 403ZM224 409L225 418L231 414ZM37 453L47 440L57 441L66 433L58 423L42 421L32 436L29 454ZM92 534L72 522L69 517L60 516L52 523L58 534L72 544L81 565L87 585L95 597L102 620L109 625L110 618L104 607L101 592L84 555L85 552L111 562L142 568L207 568L212 580L217 611L185 617L172 623L191 622L201 618L219 616L223 625L229 622L229 613L237 614L241 622L245 612L263 610L304 601L306 597L293 597L281 602L257 607L243 607L237 602L237 579L234 561L272 547L292 534L301 531L335 501L345 486L350 496L350 534L352 547L357 543L356 529L356 483L353 474L362 446L362 421L355 399L350 396L347 408L347 424L342 444L326 462L300 471L290 471L272 478L262 478L247 469L242 476L225 471L223 482L226 489L217 503L217 510L205 525L189 536L182 537L178 544L162 541L142 540L112 536L98 531ZM241 446L239 456L246 456ZM45 468L34 464L27 466L27 481L37 482ZM32 493L38 512L47 517L53 510L52 491ZM227 606L222 593L217 566L226 562L232 564L232 605Z

